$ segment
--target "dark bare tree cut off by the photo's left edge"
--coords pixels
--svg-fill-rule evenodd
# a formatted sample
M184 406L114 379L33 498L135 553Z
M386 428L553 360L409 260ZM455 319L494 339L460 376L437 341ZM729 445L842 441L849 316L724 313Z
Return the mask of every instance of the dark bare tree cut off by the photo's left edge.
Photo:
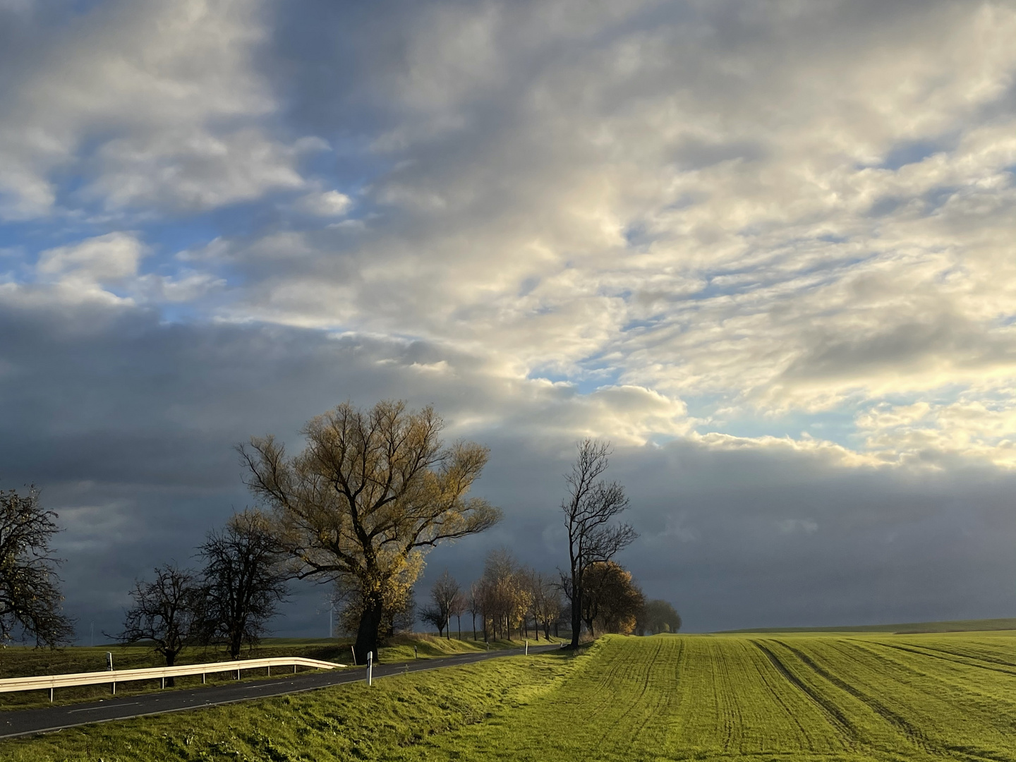
M31 637L55 648L74 637L74 623L60 613L56 567L50 538L59 531L57 514L45 510L39 491L0 491L0 643Z

